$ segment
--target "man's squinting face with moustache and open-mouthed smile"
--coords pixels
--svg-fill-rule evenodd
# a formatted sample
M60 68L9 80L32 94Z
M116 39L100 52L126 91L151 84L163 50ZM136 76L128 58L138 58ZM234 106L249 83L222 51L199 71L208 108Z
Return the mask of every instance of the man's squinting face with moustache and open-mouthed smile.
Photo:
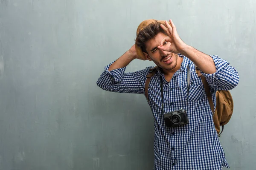
M163 40L165 37L168 37L168 35L159 33L155 38L148 40L145 43L148 54L144 54L148 60L152 60L158 67L168 71L176 67L178 55L157 48L157 46L160 45L161 40ZM163 45L170 46L170 43L171 42L164 42Z

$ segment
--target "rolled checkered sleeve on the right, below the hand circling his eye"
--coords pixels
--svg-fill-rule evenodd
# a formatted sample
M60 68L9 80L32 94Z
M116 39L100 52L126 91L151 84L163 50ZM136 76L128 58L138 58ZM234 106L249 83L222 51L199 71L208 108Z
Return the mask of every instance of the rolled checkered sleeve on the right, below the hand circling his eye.
M207 80L211 88L216 88L216 90L231 90L238 85L239 74L236 68L230 66L229 62L224 59L219 58L216 55L212 57L216 72L213 74L205 74L201 71L201 74Z

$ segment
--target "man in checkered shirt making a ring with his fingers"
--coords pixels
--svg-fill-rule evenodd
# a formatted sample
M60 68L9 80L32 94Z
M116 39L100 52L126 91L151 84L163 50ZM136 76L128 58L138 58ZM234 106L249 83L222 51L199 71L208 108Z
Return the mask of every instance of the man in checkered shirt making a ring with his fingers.
M214 105L216 91L236 87L239 75L224 59L209 56L185 44L177 34L172 20L169 22L143 21L137 29L136 44L105 67L97 85L107 91L148 96L154 116L155 170L229 168L195 66L207 79ZM126 66L134 59L147 59L158 66L151 77L147 93L145 81L152 67L124 73ZM173 111L185 111L183 116L188 121L169 127L165 116Z

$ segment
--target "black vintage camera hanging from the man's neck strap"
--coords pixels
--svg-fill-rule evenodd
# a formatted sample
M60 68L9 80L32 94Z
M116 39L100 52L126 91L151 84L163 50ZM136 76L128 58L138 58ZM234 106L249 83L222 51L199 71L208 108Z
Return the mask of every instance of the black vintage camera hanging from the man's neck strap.
M166 127L175 127L189 123L187 113L184 109L163 114Z

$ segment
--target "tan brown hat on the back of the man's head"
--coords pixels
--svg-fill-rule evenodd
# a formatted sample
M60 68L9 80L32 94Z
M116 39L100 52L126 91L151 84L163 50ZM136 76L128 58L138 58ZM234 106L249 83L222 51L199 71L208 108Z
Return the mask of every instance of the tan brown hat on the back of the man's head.
M163 20L158 21L158 20L145 20L142 23L140 23L140 25L137 28L137 34L136 36L138 36L138 34L140 33L141 30L143 30L143 28L145 28L146 26L148 26L151 23L155 23L155 22L159 22L161 24L163 24L165 26L165 22ZM169 22L168 22L169 23ZM169 23L170 24L170 23ZM171 25L171 24L170 24ZM146 60L145 54L143 53L142 49L140 48L140 46L137 45L137 38L135 40L135 49L136 49L136 53L138 55L138 57L142 60Z

